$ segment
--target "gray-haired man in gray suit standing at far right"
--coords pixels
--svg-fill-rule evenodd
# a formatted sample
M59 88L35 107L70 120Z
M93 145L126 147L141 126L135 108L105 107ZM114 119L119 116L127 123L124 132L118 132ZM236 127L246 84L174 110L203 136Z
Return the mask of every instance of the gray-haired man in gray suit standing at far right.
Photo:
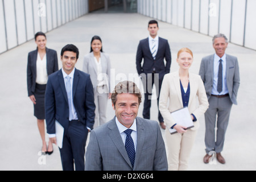
M209 163L210 151L217 153L218 162L225 164L221 155L224 147L225 133L228 127L232 105L237 105L237 93L240 86L240 73L237 57L225 53L228 39L223 34L215 35L213 48L216 53L204 57L201 61L199 75L204 81L209 100L209 109L205 113L205 146L207 155L204 163ZM217 136L215 126L217 116Z

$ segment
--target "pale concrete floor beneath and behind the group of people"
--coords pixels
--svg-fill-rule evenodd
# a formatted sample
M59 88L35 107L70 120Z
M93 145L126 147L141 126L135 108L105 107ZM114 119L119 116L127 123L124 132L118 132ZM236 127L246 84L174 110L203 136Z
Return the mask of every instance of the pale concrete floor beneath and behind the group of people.
M60 55L61 48L66 44L75 44L80 49L80 59L76 68L82 69L83 57L90 51L90 40L92 36L99 35L102 38L104 52L110 55L115 84L125 77L138 81L135 56L139 40L148 36L149 20L150 18L139 14L88 14L48 32L47 47L55 49ZM171 46L171 72L178 69L177 51L182 47L188 47L194 53L191 72L199 73L202 57L214 53L212 38L168 23L159 22L159 27L159 36L168 39ZM27 54L35 48L36 44L34 40L31 40L0 55L0 67L2 68L0 73L0 170L62 170L59 149L56 146L54 146L53 154L46 156L46 164L40 165L38 162L42 140L33 115L32 102L27 97L26 81ZM199 118L201 127L189 160L189 170L256 169L256 156L254 155L256 151L256 119L254 118L256 52L229 44L226 53L238 57L241 75L238 106L232 108L222 152L226 164L203 163L205 125L204 117L201 117ZM61 68L60 59L59 66ZM151 119L156 120L158 111L156 101L152 102ZM140 117L142 117L142 110L143 105L138 114ZM113 117L114 111L109 101L108 120Z

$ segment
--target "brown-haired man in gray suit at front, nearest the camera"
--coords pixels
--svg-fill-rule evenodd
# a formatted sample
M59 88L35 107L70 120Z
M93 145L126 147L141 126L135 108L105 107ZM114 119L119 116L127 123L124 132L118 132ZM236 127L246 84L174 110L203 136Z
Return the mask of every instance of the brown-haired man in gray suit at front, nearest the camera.
M86 171L167 171L166 148L158 123L137 117L141 97L134 82L115 86L115 117L92 130Z

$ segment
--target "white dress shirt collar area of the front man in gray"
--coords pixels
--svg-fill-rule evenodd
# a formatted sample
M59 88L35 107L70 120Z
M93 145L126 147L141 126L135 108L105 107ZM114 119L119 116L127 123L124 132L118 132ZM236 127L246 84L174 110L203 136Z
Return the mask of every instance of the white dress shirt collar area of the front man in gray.
M125 131L128 130L128 128L123 126L118 121L117 117L115 117L115 123L117 123L117 128L118 128L119 133L121 135L121 138L123 140L123 144L125 144L125 140L126 140ZM129 129L133 130L133 132L131 132L131 138L133 138L133 143L134 143L134 147L135 147L135 151L136 151L136 148L137 148L137 125L136 125L136 119L134 119L133 125L131 125L131 127Z

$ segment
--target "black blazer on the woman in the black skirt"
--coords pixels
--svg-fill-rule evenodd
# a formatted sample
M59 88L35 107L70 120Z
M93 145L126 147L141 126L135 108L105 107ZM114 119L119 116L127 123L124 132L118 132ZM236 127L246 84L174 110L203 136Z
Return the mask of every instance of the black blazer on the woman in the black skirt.
M46 48L47 74L48 76L59 70L57 52ZM27 90L28 96L35 93L36 86L36 60L38 58L38 49L28 53L27 61Z

